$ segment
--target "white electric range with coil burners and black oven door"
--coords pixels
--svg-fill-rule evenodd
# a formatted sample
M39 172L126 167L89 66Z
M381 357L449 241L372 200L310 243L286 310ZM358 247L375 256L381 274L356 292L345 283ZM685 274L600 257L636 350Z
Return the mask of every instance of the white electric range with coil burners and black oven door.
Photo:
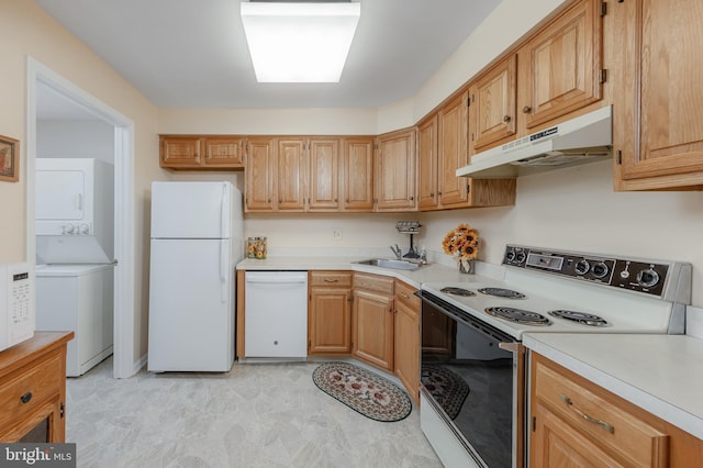
M467 276L417 292L421 424L447 466L525 466L524 333L685 330L690 264L518 245L502 264L503 280ZM447 403L456 393L462 400Z

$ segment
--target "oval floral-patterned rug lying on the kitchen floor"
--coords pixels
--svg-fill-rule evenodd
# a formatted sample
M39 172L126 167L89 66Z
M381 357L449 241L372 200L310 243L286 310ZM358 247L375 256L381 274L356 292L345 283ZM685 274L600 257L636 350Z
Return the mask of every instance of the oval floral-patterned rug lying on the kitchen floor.
M410 398L390 380L347 363L325 363L312 372L317 388L358 413L394 422L412 411Z

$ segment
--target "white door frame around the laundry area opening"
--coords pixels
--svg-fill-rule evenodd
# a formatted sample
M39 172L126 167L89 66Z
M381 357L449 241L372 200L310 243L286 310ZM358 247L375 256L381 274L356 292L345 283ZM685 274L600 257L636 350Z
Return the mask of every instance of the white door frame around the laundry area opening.
M36 258L34 236L34 160L36 158L36 83L42 82L114 126L114 352L113 376L127 378L142 367L135 356L134 278L134 122L33 57L26 60L26 260Z

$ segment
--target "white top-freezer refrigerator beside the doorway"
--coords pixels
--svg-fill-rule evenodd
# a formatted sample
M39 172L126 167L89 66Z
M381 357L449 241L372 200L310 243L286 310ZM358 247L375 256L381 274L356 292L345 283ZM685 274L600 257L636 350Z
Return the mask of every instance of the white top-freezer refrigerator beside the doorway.
M228 371L242 193L230 182L153 182L147 369Z

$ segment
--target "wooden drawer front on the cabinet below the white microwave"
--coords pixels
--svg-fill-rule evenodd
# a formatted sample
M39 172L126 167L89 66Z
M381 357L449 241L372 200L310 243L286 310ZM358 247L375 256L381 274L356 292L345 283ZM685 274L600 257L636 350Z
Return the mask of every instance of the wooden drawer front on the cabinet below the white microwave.
M0 387L0 426L21 420L51 397L59 394L64 379L62 369L62 355L55 355L3 383ZM27 400L24 403L23 398Z

